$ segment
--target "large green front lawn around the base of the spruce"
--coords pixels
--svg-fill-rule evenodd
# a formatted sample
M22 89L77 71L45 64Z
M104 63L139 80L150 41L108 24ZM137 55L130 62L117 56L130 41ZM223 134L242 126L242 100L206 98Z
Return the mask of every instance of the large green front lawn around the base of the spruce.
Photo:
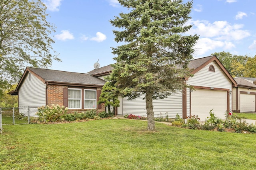
M256 134L199 131L156 122L104 119L5 125L0 169L253 170Z

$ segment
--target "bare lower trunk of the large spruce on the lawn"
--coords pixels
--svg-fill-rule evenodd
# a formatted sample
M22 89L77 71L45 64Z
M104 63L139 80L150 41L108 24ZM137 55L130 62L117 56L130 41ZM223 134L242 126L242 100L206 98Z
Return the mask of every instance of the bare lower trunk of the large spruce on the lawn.
M146 92L146 110L148 117L148 131L155 130L155 119L154 119L154 111L153 111L153 92Z

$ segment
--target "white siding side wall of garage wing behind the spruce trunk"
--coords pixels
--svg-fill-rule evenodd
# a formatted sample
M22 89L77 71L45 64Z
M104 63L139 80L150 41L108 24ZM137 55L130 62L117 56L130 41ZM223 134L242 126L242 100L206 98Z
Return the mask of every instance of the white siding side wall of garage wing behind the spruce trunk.
M135 100L122 99L122 113L133 114L139 116L147 116L146 101L143 100L144 96ZM173 94L166 99L153 100L154 117L175 118L176 114L182 117L182 93Z

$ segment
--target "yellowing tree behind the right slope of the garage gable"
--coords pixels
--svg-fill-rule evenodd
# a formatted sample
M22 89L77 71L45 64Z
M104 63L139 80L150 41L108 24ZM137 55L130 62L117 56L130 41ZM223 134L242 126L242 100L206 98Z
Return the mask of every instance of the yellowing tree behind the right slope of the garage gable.
M232 55L229 52L213 53L233 77L243 77L246 70L248 56Z

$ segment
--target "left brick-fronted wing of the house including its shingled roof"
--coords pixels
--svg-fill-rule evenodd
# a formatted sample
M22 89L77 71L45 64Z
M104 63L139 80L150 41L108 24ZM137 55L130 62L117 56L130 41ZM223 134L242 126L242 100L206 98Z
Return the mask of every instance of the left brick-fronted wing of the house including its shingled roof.
M13 93L18 94L19 107L59 104L68 107L68 112L101 112L105 111L104 104L97 105L97 101L104 84L104 80L87 73L27 67Z

